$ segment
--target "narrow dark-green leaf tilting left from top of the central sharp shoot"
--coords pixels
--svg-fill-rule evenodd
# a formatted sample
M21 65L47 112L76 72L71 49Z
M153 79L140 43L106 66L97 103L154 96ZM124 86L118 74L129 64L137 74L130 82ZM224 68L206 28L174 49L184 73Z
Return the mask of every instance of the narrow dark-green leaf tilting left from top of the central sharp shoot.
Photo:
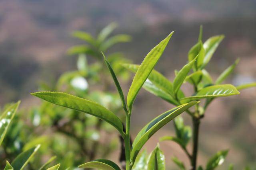
M122 90L122 88L121 88L121 86L120 86L120 84L118 82L118 79L116 78L116 74L115 74L114 70L112 69L110 63L108 63L108 60L106 59L106 56L103 53L102 53L102 55L103 55L103 58L104 58L104 61L105 61L106 65L108 67L108 70L109 70L109 72L110 72L110 74L111 74L111 76L112 76L112 78L113 78L113 80L115 82L116 89L118 91L118 94L119 94L121 102L122 102L122 107L124 108L124 110L127 113L123 90Z

